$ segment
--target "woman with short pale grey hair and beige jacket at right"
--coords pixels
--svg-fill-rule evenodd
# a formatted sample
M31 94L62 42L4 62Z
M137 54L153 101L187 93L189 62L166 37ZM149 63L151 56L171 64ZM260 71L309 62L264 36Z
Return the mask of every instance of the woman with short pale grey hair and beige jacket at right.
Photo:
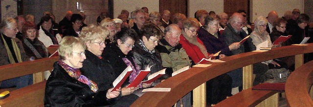
M260 43L268 41L268 47L272 47L272 42L270 41L270 37L268 32L266 31L266 25L268 24L268 20L263 17L259 16L255 21L254 21L254 31L250 34L250 38L252 39L252 43L257 46ZM280 66L277 62L273 60L265 61L262 62L263 64L273 64L274 67Z

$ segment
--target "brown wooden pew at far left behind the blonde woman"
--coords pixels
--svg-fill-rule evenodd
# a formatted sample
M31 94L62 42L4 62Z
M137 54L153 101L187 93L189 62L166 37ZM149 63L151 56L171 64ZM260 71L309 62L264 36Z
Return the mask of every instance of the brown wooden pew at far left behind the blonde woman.
M0 66L0 81L20 77L23 75L40 73L53 69L53 63L58 61L59 57L44 58L29 62L7 64ZM30 86L10 91L10 96L0 99L0 107L38 107L44 105L45 80L43 76L41 82Z

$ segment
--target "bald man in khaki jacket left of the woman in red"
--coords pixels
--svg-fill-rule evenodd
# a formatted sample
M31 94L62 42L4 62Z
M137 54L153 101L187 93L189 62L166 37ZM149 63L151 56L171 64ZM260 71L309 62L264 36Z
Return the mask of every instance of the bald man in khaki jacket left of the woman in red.
M164 30L164 38L156 46L162 59L162 66L166 67L166 72L175 72L180 68L191 65L185 49L179 44L181 30L177 24L170 24ZM172 73L170 73L172 74ZM182 97L183 107L191 107L191 93ZM180 101L178 101L180 107Z

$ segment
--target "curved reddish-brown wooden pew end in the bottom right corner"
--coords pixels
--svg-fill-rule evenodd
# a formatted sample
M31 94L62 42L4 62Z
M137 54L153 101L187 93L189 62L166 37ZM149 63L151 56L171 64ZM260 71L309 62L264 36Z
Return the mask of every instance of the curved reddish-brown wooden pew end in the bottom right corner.
M285 92L290 107L313 107L309 92L313 85L313 61L295 69L287 79Z

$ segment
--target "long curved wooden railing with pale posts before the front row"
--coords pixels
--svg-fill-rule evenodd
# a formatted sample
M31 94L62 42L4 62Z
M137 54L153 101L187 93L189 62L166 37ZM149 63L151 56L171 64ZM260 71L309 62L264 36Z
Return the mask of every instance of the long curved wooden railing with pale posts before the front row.
M194 107L205 107L205 83L219 75L244 67L244 89L252 86L252 64L275 58L294 56L295 66L303 64L303 54L313 52L313 43L308 45L290 45L273 48L267 52L248 52L226 57L225 63L212 64L206 68L194 67L171 77L155 87L171 88L170 92L146 92L138 98L132 107L171 107L188 92L194 90ZM198 87L199 86L199 87ZM203 88L204 87L204 88Z

